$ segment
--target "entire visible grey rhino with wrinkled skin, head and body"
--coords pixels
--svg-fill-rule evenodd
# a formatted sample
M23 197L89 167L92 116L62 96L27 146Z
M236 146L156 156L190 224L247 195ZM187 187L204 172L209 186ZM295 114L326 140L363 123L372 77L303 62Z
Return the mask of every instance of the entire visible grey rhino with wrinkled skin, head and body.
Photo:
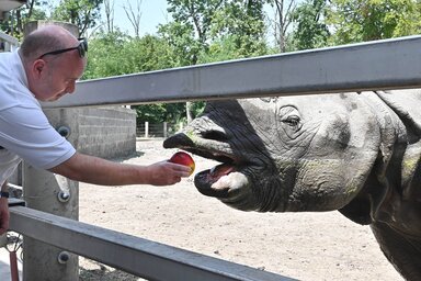
M208 102L163 145L221 161L195 186L235 209L369 224L396 269L421 280L421 90Z

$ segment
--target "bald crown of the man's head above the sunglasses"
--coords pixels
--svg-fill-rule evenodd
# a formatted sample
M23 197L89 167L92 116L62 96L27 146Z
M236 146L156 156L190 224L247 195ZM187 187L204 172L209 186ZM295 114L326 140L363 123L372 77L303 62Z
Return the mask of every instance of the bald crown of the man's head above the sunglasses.
M23 59L33 60L42 54L56 49L73 47L78 40L59 25L45 25L29 34L20 48Z

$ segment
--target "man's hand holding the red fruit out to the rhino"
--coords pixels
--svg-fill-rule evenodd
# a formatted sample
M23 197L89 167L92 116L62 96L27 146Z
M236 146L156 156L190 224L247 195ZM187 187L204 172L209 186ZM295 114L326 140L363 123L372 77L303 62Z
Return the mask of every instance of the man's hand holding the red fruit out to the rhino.
M160 161L147 167L148 183L152 186L170 186L181 181L181 178L190 176L192 169L189 166Z

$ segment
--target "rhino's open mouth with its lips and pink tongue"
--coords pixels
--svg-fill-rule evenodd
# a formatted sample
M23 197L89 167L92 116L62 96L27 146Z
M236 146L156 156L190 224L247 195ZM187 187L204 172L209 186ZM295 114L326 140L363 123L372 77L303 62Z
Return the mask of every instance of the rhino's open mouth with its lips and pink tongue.
M231 153L229 147L221 145L221 143L207 140L206 144L206 147L201 147L185 134L180 133L167 138L163 142L163 147L180 148L203 158L221 162L212 169L196 173L194 184L202 194L207 196L219 199L231 196L232 192L247 181L246 176L241 173L243 164L238 156Z

